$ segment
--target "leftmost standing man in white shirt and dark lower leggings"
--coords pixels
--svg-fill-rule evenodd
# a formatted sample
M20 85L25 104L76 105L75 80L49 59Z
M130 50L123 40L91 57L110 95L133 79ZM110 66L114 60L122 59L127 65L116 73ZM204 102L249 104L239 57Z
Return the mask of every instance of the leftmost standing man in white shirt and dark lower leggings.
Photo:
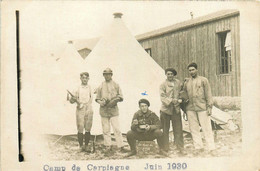
M93 121L92 94L88 85L89 73L80 74L81 85L71 94L70 103L77 103L76 121L78 129L78 142L82 151L89 152L90 130ZM85 146L83 146L83 133L85 128Z

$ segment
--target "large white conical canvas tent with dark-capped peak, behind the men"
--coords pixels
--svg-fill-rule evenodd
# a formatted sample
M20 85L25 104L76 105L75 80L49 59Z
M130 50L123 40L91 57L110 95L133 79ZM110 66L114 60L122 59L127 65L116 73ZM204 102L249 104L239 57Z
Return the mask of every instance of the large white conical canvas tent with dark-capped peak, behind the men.
M107 67L113 70L112 78L121 87L124 97L124 101L118 103L123 133L130 130L132 117L139 109L139 99L148 99L150 109L159 115L159 86L165 79L164 70L132 36L120 14L115 14L104 37L86 58L85 66L90 74L89 84L94 89L104 81L103 70ZM141 94L145 91L148 95ZM99 105L94 102L93 107L94 113L99 115Z

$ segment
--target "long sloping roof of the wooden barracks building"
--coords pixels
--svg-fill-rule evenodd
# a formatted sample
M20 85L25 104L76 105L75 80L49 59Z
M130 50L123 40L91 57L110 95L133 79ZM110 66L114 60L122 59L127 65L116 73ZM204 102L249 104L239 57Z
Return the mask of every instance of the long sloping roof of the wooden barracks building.
M138 41L141 41L141 40L149 39L152 37L157 37L157 36L160 36L163 34L171 33L171 32L177 31L177 30L193 27L196 25L216 21L216 20L219 20L222 18L227 18L227 17L231 17L231 16L235 16L235 15L239 15L239 11L236 9L222 10L222 11L218 11L215 13L211 13L209 15L205 15L205 16L198 17L198 18L193 18L193 19L190 19L190 20L178 23L178 24L167 26L167 27L164 27L164 28L161 28L158 30L140 34L140 35L137 35L135 38Z

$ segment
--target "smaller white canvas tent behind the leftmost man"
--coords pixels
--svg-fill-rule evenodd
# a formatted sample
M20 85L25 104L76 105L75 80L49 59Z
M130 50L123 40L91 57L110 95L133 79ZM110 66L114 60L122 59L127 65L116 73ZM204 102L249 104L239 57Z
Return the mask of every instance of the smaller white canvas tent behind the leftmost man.
M53 124L59 126L50 126L50 130L45 132L50 134L68 135L76 134L76 104L70 104L67 101L67 90L73 92L81 84L80 73L87 71L84 60L76 51L73 43L68 43L61 54L60 60L57 62L60 69L59 75L54 85L57 87L53 92L53 98L56 99L56 116L49 116L53 119ZM96 130L101 130L100 118L96 117L95 113L93 120L93 133L101 134ZM49 119L48 119L49 120ZM48 121L47 121L48 122Z

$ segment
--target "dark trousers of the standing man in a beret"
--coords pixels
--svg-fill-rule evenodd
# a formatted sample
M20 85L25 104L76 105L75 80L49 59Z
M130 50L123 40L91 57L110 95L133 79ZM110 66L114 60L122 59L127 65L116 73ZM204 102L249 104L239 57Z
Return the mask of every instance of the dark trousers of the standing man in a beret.
M161 125L163 129L163 143L164 150L169 150L169 129L170 129L170 121L172 122L172 129L174 135L174 143L178 149L183 149L183 131L182 131L182 120L181 113L172 115L168 115L166 113L161 112L160 115Z

